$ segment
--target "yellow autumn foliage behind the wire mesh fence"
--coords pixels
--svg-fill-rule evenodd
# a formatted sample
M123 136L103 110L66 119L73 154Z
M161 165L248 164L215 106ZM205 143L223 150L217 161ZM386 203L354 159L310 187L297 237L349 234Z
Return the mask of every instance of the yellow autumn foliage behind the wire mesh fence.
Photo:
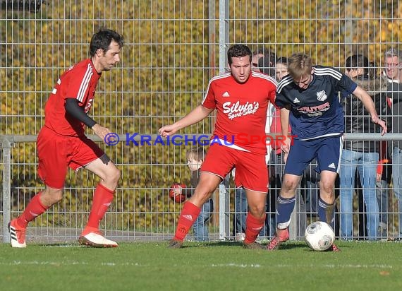
M102 27L121 32L126 45L121 64L102 74L90 114L118 133L157 133L160 126L200 104L209 78L219 71L219 1L47 2L36 14L0 11L2 135L37 134L54 82L88 57L90 38ZM215 2L214 19L209 19L209 2ZM265 46L278 56L303 51L317 64L342 69L346 57L355 52L381 65L382 52L401 40L401 16L396 0L248 0L229 1L224 22L229 44L246 43L253 50ZM209 118L181 133L210 133L211 123ZM172 205L167 188L189 181L189 147L99 145L122 171L112 209L118 217L116 227L171 226L176 215L162 213L181 206ZM42 187L36 163L34 143L13 148L15 210ZM75 225L63 212L88 211L88 203L82 201L91 201L96 183L90 173L70 172L66 201L55 206L58 220Z

